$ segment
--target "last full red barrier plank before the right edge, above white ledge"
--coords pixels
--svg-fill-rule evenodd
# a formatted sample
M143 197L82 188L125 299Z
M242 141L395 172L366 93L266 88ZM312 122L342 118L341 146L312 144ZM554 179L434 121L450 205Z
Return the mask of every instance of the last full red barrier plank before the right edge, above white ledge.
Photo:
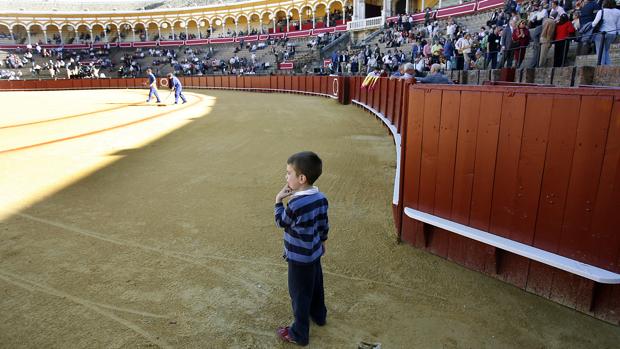
M597 205L596 193L601 177L613 98L583 96L573 163L562 223L559 253L588 264L595 260L591 231L592 209ZM617 229L617 227L616 227Z

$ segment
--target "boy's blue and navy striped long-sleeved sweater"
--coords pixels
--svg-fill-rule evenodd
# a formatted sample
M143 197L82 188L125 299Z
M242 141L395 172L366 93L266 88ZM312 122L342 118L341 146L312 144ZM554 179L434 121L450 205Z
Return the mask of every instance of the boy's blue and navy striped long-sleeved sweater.
M297 193L285 208L276 204L276 225L284 228L284 257L298 264L309 264L323 255L327 240L328 202L323 193L312 188Z

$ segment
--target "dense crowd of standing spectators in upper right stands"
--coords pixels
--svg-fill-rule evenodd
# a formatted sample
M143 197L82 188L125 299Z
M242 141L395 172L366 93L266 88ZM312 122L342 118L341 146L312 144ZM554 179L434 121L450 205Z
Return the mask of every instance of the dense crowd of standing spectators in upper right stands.
M413 23L411 15L400 15L397 21L386 25L379 39L380 43L385 44L384 51L376 45L366 46L358 54L336 54L338 57L332 57L332 61L336 62L332 72L369 72L380 66L393 73L407 62L412 62L418 73L429 71L433 64L440 64L442 69L459 70L524 67L525 54L529 49L535 50L538 60L532 59L527 63L528 67L545 66L547 59L551 58L548 56L552 46L555 48L552 65L560 67L567 63L571 41L580 35L594 41L597 52L603 51L601 64L610 64L609 45L616 37L620 10L615 9L613 0L601 3L608 4L603 23L611 28L607 30L605 43L601 45L597 40L602 42L602 36L593 37L591 32L584 34L583 31L584 27L591 28L595 20L595 11L600 8L596 0L523 3L506 0L505 7L492 12L486 26L478 32L468 31L453 18L449 18L445 26L440 26L434 18L436 12L428 9L424 24L420 25ZM579 52L588 52L588 40L581 41Z

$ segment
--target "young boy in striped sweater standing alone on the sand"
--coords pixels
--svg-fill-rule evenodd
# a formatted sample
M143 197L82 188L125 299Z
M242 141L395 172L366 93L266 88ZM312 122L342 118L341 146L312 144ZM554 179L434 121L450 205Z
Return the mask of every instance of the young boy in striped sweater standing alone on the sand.
M277 329L284 342L308 345L310 319L318 326L327 320L321 256L329 232L328 202L313 186L321 176L318 155L304 151L286 161L286 185L276 195L276 225L284 229L284 259L288 262L288 293L293 306L293 324ZM291 197L287 207L282 199Z

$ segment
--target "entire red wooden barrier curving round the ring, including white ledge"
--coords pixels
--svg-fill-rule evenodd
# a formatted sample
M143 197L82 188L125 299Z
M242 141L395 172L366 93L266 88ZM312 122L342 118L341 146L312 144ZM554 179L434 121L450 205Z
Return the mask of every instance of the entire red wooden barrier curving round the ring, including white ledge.
M186 88L330 97L371 112L395 142L398 241L620 324L620 89L385 78L362 87L362 77L290 75L180 80ZM0 81L0 90L143 82Z

